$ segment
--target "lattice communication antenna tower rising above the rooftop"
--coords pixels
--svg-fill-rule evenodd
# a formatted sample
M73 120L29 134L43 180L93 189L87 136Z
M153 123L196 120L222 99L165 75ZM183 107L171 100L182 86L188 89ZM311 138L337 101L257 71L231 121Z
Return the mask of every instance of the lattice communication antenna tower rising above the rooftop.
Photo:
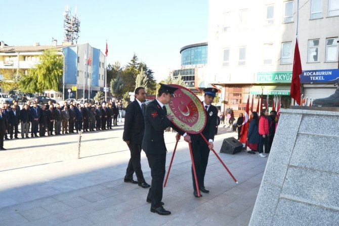
M80 17L76 17L76 7L74 16L71 15L71 10L68 9L68 5L65 6L64 12L64 29L65 29L65 41L71 44L77 44L80 32Z

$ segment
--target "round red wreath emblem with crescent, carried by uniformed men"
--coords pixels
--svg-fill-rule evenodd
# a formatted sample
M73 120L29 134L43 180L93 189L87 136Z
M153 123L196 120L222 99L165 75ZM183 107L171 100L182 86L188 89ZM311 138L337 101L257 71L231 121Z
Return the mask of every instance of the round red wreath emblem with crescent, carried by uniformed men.
M170 85L178 88L172 100L165 105L167 112L174 116L173 123L187 133L200 133L206 124L206 110L202 102L189 89Z

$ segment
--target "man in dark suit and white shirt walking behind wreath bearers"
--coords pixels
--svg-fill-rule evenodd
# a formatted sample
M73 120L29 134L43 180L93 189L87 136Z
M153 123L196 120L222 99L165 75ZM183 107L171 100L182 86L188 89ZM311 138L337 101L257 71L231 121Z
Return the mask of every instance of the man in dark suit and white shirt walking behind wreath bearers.
M141 142L145 130L145 105L146 91L143 87L135 90L135 100L126 108L125 123L123 125L122 139L130 148L131 158L126 169L124 182L138 183L143 188L150 187L146 183L140 164ZM138 181L133 180L133 173L136 173Z

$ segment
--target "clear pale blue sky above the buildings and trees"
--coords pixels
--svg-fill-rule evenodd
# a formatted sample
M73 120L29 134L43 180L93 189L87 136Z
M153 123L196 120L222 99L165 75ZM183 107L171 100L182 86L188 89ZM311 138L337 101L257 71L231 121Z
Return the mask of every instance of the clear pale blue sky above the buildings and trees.
M136 53L161 80L180 69L180 49L207 41L208 0L0 1L0 41L10 46L58 45L64 40L65 5L81 17L78 44L105 52L121 66Z

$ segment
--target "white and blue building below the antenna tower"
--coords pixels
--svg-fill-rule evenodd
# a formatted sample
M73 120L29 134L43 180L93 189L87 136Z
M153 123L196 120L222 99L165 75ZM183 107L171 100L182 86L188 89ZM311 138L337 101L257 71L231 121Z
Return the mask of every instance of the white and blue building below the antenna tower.
M59 91L64 90L65 97L68 97L69 89L73 98L93 98L97 91L104 91L105 54L88 43L57 45L55 41L52 45L7 46L1 42L0 70L11 70L18 75L21 71L20 76L24 76L48 49L56 49L57 54L64 56L64 76Z

